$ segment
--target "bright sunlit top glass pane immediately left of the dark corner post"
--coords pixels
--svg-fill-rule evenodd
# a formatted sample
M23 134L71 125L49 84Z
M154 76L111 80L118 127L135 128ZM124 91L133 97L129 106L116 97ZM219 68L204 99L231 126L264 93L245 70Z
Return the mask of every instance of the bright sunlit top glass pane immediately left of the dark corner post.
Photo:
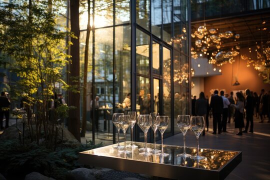
M129 1L130 0L115 0L115 24L129 22Z

